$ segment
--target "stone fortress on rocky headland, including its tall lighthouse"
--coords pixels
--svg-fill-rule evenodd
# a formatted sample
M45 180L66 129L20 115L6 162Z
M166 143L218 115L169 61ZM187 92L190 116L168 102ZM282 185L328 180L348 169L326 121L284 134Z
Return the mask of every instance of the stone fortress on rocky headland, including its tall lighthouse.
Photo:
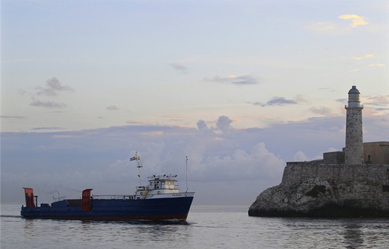
M281 184L260 193L249 216L389 217L389 142L363 143L360 94L348 93L343 150L286 163Z

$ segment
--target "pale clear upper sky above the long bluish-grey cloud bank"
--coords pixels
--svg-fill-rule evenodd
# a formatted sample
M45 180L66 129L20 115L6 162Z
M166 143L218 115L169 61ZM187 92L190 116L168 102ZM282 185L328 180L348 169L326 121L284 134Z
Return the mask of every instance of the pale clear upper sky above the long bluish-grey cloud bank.
M218 115L229 115L235 127L263 127L323 115L307 112L312 106L339 115L334 100L354 82L365 95L388 95L386 1L2 1L1 7L1 111L26 117L2 120L3 131L126 122L194 127ZM342 15L365 23L352 26L357 18ZM37 96L53 77L73 90ZM274 97L297 104L253 104Z

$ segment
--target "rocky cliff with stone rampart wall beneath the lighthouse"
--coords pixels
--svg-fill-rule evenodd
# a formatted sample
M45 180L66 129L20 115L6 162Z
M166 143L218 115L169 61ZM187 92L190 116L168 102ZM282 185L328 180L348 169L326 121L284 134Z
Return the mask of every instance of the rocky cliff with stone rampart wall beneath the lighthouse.
M389 217L389 165L287 163L249 216Z

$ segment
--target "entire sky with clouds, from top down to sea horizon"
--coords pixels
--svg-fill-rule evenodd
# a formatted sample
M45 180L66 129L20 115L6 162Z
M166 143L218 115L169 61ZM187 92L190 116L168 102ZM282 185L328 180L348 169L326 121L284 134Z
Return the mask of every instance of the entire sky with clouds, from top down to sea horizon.
M128 194L254 202L288 161L389 140L388 1L1 1L1 202Z

